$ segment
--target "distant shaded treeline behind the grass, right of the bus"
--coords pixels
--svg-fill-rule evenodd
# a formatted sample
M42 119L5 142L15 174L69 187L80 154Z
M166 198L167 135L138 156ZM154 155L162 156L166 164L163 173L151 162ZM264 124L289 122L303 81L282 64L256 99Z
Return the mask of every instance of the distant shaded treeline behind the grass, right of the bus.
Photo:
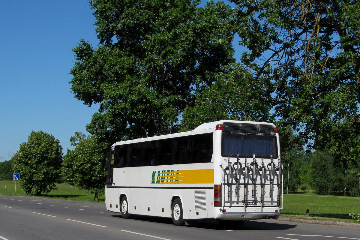
M359 197L360 176L355 162L336 162L329 149L292 151L282 156L284 193L306 191Z

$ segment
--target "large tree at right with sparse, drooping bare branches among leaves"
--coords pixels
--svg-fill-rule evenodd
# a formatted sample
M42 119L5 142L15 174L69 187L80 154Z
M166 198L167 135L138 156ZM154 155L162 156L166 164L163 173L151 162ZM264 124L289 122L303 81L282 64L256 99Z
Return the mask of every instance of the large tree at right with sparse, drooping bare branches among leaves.
M232 0L242 62L276 86L275 114L309 147L323 148L348 119L359 132L360 2ZM356 141L353 141L354 144ZM354 156L359 154L351 146Z

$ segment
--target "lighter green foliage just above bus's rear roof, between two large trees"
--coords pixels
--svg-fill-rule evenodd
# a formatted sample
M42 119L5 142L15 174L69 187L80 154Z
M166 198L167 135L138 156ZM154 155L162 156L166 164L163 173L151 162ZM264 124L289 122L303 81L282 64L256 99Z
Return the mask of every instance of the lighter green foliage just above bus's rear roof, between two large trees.
M194 93L194 104L186 106L182 130L192 130L205 122L222 119L243 121L274 121L273 83L261 78L255 82L242 64L222 67L216 81Z

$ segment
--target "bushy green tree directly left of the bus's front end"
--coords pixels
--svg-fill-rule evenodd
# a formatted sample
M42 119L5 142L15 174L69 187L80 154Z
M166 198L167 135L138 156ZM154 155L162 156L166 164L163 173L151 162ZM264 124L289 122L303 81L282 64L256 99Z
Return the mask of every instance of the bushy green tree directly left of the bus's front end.
M94 200L98 194L104 192L107 172L101 166L101 159L107 145L99 142L96 136L87 136L75 132L71 137L71 144L75 149L67 150L62 164L63 181L79 189L94 193Z

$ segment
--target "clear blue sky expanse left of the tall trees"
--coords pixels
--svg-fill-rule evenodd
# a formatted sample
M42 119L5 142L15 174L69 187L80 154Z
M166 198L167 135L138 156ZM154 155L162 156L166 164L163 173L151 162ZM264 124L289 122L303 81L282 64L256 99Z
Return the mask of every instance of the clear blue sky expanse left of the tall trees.
M63 153L98 105L87 107L70 92L75 47L98 45L86 0L3 1L0 8L0 162L27 142L31 131L60 140Z

